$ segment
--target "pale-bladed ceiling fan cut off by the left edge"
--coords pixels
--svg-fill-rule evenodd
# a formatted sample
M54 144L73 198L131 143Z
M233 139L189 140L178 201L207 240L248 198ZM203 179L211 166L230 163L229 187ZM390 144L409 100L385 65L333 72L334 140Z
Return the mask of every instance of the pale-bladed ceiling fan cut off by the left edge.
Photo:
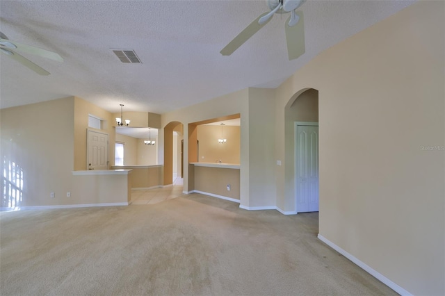
M10 41L0 32L0 51L2 54L17 60L17 62L21 63L25 67L33 70L35 73L40 75L49 75L50 73L43 69L42 67L35 65L35 63L31 62L24 56L17 54L17 51L23 51L26 54L35 54L36 56L42 56L43 58L49 58L51 60L57 60L58 62L63 62L63 58L52 51L47 51L45 49L39 49L37 47L33 47L31 45L18 43L15 41Z

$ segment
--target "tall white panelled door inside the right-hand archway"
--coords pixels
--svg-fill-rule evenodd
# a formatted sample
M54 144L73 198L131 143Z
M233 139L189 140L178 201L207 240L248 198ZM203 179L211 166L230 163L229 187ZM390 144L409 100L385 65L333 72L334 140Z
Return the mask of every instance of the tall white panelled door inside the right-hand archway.
M312 123L316 124L316 123ZM318 124L296 123L297 213L318 211Z

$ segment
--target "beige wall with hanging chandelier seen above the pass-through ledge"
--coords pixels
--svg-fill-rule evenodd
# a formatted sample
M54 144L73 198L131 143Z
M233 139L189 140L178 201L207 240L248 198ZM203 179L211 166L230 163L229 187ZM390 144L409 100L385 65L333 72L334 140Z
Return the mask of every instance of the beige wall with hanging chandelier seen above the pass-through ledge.
M223 126L223 136L227 142L220 144L221 126L198 125L197 140L200 141L198 161L202 163L215 163L221 160L223 163L240 162L241 129L239 126Z

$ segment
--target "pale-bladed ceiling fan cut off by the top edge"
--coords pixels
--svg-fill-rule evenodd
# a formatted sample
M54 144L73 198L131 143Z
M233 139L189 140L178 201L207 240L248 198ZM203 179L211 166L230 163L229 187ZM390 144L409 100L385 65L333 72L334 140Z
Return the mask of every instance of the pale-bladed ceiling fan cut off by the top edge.
M289 60L293 60L305 53L305 29L303 25L302 11L296 11L302 3L306 0L266 0L270 8L269 12L263 13L249 26L247 26L241 33L239 33L234 40L229 42L220 53L223 56L230 56L238 47L244 44L254 33L257 33L260 28L266 25L272 19L275 13L291 13L291 16L284 24L284 31L286 33L287 53Z

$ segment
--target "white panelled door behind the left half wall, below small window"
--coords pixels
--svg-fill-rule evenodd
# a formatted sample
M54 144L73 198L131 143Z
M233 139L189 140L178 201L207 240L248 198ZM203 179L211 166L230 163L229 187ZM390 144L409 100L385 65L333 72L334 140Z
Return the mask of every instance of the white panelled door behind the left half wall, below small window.
M88 130L88 170L108 170L108 134Z

